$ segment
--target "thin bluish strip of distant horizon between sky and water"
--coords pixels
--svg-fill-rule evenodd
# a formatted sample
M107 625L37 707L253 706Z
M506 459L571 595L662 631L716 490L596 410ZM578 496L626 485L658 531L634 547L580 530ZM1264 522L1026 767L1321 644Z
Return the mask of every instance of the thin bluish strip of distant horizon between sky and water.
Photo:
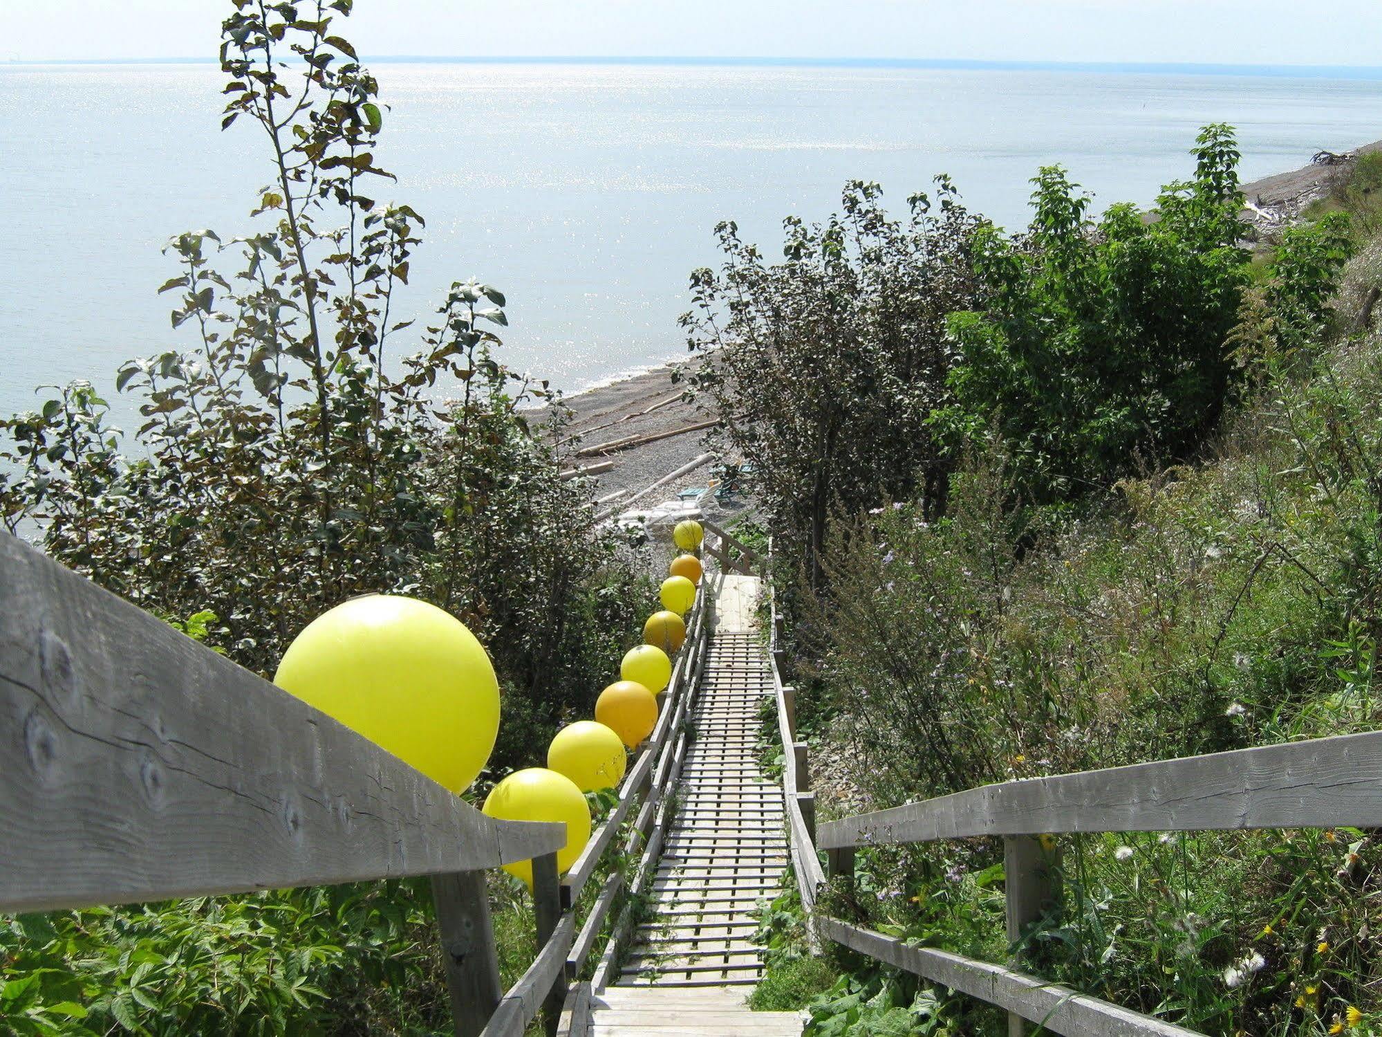
M1382 65L1273 65L1195 61L1048 61L1010 58L850 58L850 57L714 57L714 55L445 55L372 54L361 62L408 65L702 65L784 68L919 68L1014 72L1114 72L1146 75L1269 76L1295 79L1382 79ZM8 58L4 66L33 65L216 65L218 58Z

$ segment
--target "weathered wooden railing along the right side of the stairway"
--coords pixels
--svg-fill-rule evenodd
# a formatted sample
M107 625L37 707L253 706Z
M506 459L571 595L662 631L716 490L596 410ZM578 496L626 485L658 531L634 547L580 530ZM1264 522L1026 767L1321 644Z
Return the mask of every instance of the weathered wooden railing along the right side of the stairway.
M822 823L814 810L792 812L789 788L807 780L806 747L795 741L795 695L779 675L781 619L773 608L773 673L778 726L786 752L792 861L807 911L826 875L851 877L858 846L938 839L1002 838L1007 937L1060 897L1060 849L1071 832L1230 831L1382 825L1382 731L1285 745L1266 745L1126 767L1005 781L887 810ZM789 734L791 731L791 734ZM793 759L796 766L793 766ZM925 762L922 763L925 766ZM789 785L792 783L792 785ZM808 802L796 791L796 802ZM1043 841L1052 849L1043 848ZM826 867L821 868L820 852ZM1070 1037L1169 1037L1182 1026L1133 1012L1007 965L918 947L814 911L817 939L829 939L878 961L962 991L1009 1012L1009 1033L1028 1023Z

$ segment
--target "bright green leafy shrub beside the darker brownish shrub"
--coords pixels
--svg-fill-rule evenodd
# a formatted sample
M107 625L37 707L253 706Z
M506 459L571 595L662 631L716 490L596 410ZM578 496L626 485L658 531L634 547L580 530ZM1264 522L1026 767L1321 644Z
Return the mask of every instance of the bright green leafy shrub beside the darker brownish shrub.
M965 438L996 429L1032 502L1106 488L1139 456L1193 456L1218 423L1248 256L1231 130L1206 127L1194 155L1154 220L1115 205L1095 223L1048 167L1025 235L976 238L978 306L951 318L943 420Z

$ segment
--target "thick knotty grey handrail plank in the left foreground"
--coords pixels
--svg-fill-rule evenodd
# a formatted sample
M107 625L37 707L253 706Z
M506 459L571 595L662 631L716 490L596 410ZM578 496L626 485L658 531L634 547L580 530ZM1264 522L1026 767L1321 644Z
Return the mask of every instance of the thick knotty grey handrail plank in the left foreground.
M445 874L558 846L0 534L0 910Z

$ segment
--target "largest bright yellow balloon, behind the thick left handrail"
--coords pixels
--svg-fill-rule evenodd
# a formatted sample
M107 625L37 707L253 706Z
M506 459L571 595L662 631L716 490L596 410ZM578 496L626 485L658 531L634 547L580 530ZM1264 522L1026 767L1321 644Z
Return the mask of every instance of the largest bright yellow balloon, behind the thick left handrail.
M453 615L412 597L369 595L319 615L274 683L452 792L475 780L499 733L485 650Z

